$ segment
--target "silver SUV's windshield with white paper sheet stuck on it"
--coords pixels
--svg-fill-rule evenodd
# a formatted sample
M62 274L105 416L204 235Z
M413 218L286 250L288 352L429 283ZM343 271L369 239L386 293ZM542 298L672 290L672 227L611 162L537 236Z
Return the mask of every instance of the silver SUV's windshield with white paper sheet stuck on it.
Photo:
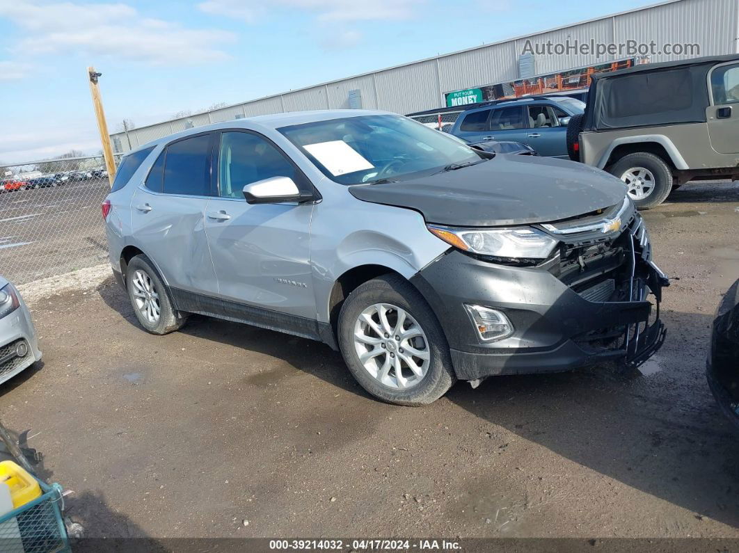
M364 115L278 129L328 178L355 185L481 162L449 134L399 115Z

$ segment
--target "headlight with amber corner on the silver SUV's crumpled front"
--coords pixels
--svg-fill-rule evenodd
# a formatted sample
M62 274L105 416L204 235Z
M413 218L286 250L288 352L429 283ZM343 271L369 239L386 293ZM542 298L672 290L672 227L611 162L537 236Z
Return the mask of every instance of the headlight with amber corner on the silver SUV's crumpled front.
M511 260L543 260L558 241L531 227L462 229L428 225L443 241L465 252Z

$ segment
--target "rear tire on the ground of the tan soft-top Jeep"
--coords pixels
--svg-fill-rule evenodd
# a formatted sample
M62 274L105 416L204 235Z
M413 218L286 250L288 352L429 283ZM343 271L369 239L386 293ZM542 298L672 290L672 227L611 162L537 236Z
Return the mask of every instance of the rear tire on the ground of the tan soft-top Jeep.
M638 171L641 170L641 171ZM634 179L628 178L634 174L641 173L644 176L643 182L635 185L629 185L629 196L633 199L637 209L647 210L651 207L660 205L672 190L672 182L675 180L672 171L664 159L650 154L648 152L636 152L621 157L616 163L611 165L608 170L610 174L618 177L624 182L635 182ZM637 194L640 190L633 189L633 186L646 188L647 183L651 183L652 187L647 195L639 197ZM641 188L641 190L644 190Z

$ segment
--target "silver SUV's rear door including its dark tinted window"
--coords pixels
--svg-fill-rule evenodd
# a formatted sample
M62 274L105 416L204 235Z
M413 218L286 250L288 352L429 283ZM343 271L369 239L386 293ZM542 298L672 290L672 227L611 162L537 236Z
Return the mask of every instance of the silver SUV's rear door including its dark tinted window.
M136 245L178 292L217 294L205 237L205 207L213 196L214 133L171 142L157 157L131 202Z

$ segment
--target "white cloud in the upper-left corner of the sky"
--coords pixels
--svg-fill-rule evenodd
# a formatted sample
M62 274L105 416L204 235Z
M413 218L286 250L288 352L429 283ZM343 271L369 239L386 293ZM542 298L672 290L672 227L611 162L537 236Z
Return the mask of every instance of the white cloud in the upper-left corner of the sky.
M190 29L146 18L127 4L0 0L0 17L24 31L11 47L24 56L82 52L153 65L183 65L227 59L219 47L236 40L223 30Z

